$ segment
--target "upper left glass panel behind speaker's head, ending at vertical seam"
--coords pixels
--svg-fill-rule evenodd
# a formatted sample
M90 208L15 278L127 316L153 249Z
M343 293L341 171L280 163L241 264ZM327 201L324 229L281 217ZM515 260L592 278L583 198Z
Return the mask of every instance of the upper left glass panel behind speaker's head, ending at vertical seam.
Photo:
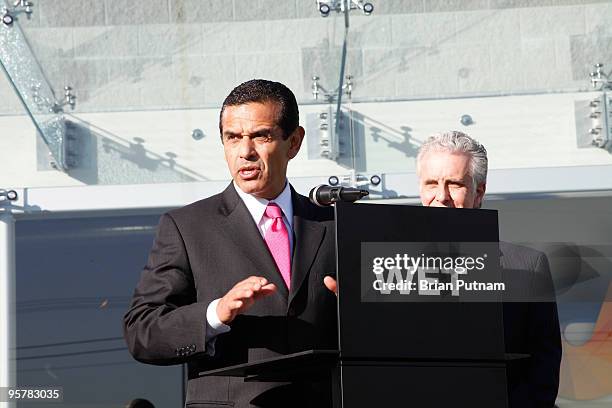
M322 104L304 106L304 123L335 99L344 16L323 18L315 2L264 7L164 0L129 11L112 1L88 4L81 9L41 2L32 21L21 22L51 86L71 85L77 105L66 115L66 174L48 173L52 163L37 146L36 169L23 163L30 167L17 172L24 180L18 185L229 179L217 123L219 106L234 86L252 78L283 82L301 103ZM126 13L138 17L126 19ZM313 76L321 86L318 99ZM321 158L313 137L295 171L345 172ZM45 177L36 177L41 172Z

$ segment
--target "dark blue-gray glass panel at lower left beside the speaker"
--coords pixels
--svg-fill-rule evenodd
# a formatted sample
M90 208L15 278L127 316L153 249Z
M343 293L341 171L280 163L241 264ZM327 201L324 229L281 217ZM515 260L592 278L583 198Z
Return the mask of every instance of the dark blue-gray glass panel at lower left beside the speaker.
M122 333L158 219L16 223L17 384L62 386L63 407L182 404L181 367L136 362Z

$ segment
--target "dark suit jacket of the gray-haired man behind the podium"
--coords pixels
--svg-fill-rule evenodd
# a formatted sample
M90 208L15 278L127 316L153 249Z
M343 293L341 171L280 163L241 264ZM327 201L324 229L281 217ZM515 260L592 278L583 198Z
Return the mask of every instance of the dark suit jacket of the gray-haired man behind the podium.
M559 390L561 334L548 259L542 252L505 242L500 242L500 251L504 280L523 289L524 299L531 300L503 305L506 352L531 355L507 370L509 406L553 407Z

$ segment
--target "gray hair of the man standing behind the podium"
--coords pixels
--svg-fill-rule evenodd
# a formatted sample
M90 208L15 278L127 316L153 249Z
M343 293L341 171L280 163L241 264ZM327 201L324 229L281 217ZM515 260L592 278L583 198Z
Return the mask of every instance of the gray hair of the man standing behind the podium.
M467 154L470 156L470 176L474 181L474 189L487 182L487 149L465 133L451 130L430 136L419 149L417 173L420 172L423 156L430 151Z

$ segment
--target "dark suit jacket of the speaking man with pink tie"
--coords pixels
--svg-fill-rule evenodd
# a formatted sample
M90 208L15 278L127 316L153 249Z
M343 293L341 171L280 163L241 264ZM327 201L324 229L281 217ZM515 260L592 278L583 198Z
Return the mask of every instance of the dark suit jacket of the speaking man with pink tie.
M333 211L314 206L293 189L292 200L291 291L233 186L162 215L124 317L125 338L139 361L188 364L188 407L329 403L327 390L318 384L198 377L217 367L338 348L336 298L323 285L324 276L335 271ZM208 304L253 275L274 282L277 292L237 316L231 331L216 338L214 357L205 355Z

